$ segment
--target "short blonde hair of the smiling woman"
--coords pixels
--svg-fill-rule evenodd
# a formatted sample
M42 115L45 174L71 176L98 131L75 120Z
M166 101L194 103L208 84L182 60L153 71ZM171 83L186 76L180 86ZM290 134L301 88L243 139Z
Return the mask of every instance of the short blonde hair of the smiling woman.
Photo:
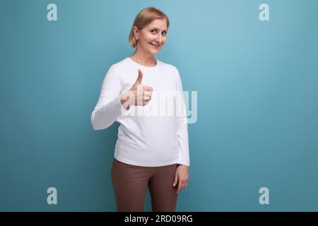
M167 21L167 28L169 28L169 19L167 18L167 15L163 13L163 11L160 11L155 7L143 8L143 10L137 14L129 33L129 44L131 47L136 48L137 46L137 40L134 35L134 26L142 29L145 28L149 23L153 22L153 20L161 18L165 18Z

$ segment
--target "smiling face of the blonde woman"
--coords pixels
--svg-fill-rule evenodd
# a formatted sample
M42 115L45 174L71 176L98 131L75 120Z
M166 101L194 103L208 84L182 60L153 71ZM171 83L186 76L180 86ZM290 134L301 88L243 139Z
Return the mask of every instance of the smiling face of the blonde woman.
M137 42L137 49L145 54L158 54L165 44L167 38L167 21L163 19L155 19L145 28L138 29L134 27L134 34Z

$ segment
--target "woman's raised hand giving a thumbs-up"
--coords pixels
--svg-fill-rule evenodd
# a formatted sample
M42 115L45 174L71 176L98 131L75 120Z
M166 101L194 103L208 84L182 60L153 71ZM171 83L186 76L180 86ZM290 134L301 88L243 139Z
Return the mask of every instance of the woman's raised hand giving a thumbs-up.
M138 78L134 85L120 96L120 101L124 109L128 110L130 105L145 106L151 101L151 95L153 94L153 88L146 85L141 85L143 78L143 72L138 70Z

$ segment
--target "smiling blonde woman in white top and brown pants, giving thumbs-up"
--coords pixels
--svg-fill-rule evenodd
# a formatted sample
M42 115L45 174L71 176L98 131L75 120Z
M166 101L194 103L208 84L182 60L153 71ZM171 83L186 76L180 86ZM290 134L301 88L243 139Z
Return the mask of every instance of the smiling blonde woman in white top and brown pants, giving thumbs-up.
M143 211L148 187L153 211L175 211L177 193L189 179L187 114L130 114L155 109L155 93L182 93L177 68L154 57L165 44L168 26L157 8L139 12L129 35L136 51L110 66L91 115L95 130L120 124L111 169L118 211Z

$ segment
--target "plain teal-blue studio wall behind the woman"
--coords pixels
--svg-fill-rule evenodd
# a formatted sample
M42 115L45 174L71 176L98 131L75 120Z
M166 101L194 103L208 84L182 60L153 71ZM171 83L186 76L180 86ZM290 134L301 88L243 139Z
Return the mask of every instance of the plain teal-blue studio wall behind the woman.
M94 131L90 114L109 67L134 52L129 31L147 6L171 22L158 59L198 91L177 210L318 210L315 0L1 0L0 210L116 210L119 124ZM50 186L57 205L47 204Z

